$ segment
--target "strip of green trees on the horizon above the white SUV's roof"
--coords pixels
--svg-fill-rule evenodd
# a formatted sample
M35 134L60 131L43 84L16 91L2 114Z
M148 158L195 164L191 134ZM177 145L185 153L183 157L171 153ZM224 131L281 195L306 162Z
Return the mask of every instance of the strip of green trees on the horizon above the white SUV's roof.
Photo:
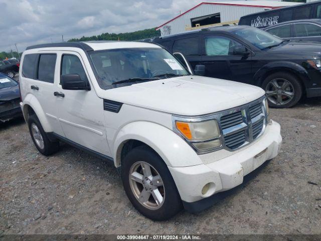
M78 41L97 41L97 40L121 40L121 41L133 41L133 40L142 40L148 39L152 37L161 36L161 31L156 31L155 28L152 29L144 29L139 30L131 33L120 33L120 34L110 34L110 33L103 33L97 36L91 37L81 37L79 39L70 39L69 42L78 42Z

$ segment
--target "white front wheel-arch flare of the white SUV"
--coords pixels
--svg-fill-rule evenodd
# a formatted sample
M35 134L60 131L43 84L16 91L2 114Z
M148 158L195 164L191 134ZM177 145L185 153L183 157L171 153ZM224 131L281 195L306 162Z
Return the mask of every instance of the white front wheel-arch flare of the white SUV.
M121 149L129 140L137 140L151 147L171 167L202 164L196 152L172 130L151 122L133 122L124 126L114 141L114 163L121 165Z

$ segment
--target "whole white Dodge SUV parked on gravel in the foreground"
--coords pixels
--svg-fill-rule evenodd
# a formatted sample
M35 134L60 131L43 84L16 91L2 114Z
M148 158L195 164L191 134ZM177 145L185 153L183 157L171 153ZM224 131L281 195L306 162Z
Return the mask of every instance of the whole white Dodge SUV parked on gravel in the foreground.
M39 152L63 141L112 162L151 219L209 207L280 149L261 88L193 75L158 45L46 44L21 62L21 107Z

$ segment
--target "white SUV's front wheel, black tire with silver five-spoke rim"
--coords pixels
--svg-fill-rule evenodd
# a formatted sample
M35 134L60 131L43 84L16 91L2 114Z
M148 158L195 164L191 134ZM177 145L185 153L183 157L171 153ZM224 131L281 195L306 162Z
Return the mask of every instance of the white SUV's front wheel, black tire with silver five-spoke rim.
M173 177L148 147L132 149L122 160L121 178L132 205L152 220L167 220L182 209Z

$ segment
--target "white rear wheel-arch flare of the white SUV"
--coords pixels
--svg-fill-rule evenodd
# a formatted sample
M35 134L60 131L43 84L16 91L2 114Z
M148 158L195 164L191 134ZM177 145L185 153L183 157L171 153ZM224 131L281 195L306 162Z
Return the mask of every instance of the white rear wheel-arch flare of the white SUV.
M53 130L49 125L48 119L46 117L44 110L41 107L41 104L39 103L38 99L35 98L35 96L33 96L32 94L27 94L23 101L22 110L23 110L23 114L26 122L28 122L28 116L29 116L28 106L30 106L35 111L44 131L52 132Z

